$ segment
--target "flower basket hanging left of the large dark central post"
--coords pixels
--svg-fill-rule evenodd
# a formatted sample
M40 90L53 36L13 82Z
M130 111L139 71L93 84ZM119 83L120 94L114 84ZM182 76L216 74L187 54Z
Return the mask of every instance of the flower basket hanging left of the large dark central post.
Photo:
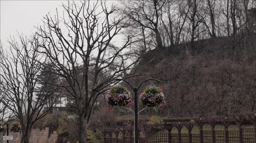
M106 94L108 105L110 106L126 106L132 102L131 93L121 86L113 86Z

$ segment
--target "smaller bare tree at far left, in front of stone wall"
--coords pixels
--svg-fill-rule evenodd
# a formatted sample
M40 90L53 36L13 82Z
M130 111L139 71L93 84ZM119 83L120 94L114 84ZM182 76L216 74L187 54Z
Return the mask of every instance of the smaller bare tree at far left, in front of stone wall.
M19 44L20 43L20 44ZM0 88L1 102L15 115L22 126L21 142L29 143L32 126L45 116L48 110L44 110L50 94L42 95L42 90L36 91L39 83L40 68L46 58L37 52L37 38L23 38L19 35L19 41L14 38L9 40L10 53L1 46L0 60ZM36 98L36 93L37 97ZM43 97L42 97L43 96ZM51 107L53 104L51 105Z

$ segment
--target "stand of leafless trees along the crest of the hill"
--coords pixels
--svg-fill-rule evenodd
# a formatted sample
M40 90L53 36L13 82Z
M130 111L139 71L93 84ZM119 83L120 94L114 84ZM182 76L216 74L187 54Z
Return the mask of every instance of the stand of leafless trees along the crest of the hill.
M136 36L143 51L172 48L180 43L253 32L249 27L255 0L140 0L121 1L127 33ZM255 30L255 29L254 29ZM146 39L145 39L146 38ZM153 41L153 43L152 43ZM142 48L143 47L143 48Z

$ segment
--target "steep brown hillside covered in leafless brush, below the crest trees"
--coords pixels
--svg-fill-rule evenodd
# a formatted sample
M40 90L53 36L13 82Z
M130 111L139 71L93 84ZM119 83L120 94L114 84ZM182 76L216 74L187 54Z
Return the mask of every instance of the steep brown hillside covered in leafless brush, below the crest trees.
M255 112L256 36L219 37L154 49L142 57L130 80L162 83L167 107L158 115L221 116ZM150 61L150 62L148 62ZM150 84L150 83L147 83ZM146 85L146 84L145 84Z

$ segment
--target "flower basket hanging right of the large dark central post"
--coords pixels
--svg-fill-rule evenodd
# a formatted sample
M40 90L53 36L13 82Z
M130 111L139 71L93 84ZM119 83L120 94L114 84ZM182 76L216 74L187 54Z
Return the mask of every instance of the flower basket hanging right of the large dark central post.
M147 107L165 105L164 94L162 89L157 86L147 86L143 93L140 94L140 102Z

